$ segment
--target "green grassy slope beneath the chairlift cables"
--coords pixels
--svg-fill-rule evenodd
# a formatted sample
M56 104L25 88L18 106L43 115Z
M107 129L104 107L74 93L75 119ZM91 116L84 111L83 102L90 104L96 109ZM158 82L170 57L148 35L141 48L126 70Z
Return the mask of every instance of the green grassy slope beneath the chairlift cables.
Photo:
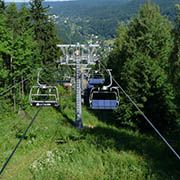
M33 116L36 108L29 108ZM117 129L83 110L85 128L72 127L71 98L61 113L43 108L0 179L179 179L179 162L150 136ZM30 120L0 117L0 165Z

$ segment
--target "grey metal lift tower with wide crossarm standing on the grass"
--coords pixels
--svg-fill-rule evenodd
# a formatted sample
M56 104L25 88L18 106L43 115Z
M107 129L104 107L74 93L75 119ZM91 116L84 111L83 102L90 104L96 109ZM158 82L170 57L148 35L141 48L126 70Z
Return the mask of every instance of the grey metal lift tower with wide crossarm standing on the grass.
M83 127L82 123L82 99L81 99L81 84L83 68L88 65L96 64L98 44L62 44L57 45L61 48L63 56L58 62L60 65L69 65L76 67L76 119L75 125L78 129Z

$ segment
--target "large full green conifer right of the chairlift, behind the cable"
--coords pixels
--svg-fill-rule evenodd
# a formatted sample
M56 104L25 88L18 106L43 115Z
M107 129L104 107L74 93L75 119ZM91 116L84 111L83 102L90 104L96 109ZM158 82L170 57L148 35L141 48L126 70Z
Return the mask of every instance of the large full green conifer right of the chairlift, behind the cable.
M127 27L120 27L108 63L127 93L164 130L174 128L177 115L168 76L171 30L171 23L161 16L159 8L145 4ZM117 114L122 123L145 127L145 121L123 94L120 103Z

